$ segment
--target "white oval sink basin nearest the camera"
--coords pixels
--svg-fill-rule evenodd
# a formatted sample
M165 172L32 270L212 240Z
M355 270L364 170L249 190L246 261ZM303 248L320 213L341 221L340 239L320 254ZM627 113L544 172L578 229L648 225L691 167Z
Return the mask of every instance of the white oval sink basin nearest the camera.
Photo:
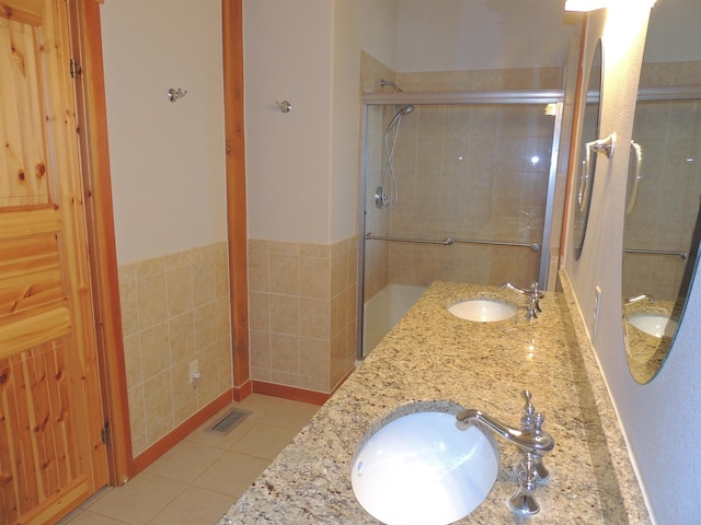
M478 427L421 411L375 432L355 454L350 481L363 508L386 524L448 524L484 501L498 463L494 439Z

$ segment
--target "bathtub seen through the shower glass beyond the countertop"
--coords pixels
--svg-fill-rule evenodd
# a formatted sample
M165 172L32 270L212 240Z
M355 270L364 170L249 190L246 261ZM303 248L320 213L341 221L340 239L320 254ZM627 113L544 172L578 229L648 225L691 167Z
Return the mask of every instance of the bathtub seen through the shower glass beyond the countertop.
M363 357L370 353L425 291L426 287L388 284L365 303Z

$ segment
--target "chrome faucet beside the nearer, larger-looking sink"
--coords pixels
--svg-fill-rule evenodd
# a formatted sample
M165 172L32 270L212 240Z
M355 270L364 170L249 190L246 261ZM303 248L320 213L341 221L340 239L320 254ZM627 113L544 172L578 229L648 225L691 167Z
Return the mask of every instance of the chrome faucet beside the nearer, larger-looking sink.
M469 408L458 413L457 419L461 422L480 421L503 440L513 443L521 451L521 458L516 466L518 472L518 491L509 500L509 505L515 511L532 515L540 511L540 504L533 497L536 480L547 480L550 472L542 462L543 455L548 454L555 446L555 440L548 432L542 430L545 418L536 412L530 402L531 393L524 390L524 416L521 417L521 429L513 429L486 413Z

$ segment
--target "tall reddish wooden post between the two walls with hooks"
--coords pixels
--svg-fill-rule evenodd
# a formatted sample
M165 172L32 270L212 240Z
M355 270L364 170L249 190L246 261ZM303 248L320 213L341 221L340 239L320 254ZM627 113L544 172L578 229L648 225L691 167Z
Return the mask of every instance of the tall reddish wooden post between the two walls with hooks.
M250 378L242 0L221 0L221 26L233 386L241 387Z

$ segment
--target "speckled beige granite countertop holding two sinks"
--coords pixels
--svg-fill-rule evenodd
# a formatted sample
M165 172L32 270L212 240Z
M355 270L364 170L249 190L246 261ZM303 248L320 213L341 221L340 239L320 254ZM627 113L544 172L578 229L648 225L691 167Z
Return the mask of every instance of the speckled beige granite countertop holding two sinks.
M498 440L494 489L457 523L652 523L588 338L578 314L570 315L576 305L566 276L563 288L547 292L543 312L528 320L526 299L512 291L435 282L219 525L377 524L356 501L349 475L374 423L415 400L447 400L518 428L525 389L555 439L544 459L551 478L536 490L540 513L521 517L509 509L518 451ZM476 296L502 298L519 311L497 323L447 311Z

